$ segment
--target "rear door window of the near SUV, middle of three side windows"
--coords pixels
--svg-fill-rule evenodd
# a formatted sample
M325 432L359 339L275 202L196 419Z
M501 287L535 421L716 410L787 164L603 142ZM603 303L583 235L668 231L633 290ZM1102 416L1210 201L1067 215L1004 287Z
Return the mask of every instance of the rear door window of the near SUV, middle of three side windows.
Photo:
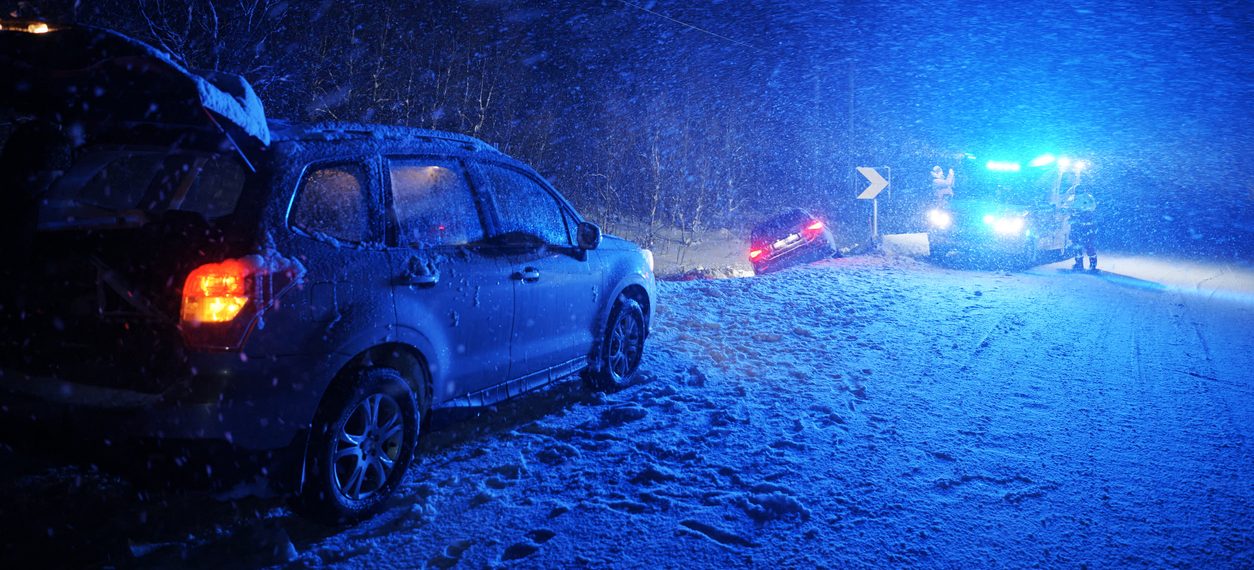
M483 239L483 223L461 168L451 160L390 159L399 246L464 246Z

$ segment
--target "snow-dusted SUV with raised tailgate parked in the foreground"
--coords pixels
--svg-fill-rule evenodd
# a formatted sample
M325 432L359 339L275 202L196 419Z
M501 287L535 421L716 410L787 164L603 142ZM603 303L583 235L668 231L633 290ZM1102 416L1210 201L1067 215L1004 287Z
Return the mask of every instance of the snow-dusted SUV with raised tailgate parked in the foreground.
M433 408L640 365L652 254L480 140L267 122L242 79L95 29L5 25L0 75L10 436L260 452L351 520Z

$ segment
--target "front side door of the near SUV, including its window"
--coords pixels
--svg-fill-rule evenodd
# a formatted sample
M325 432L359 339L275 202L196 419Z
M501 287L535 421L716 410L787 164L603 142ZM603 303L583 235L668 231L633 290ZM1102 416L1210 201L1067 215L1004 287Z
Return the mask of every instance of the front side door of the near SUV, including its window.
M513 377L573 372L592 352L592 322L603 304L601 271L574 247L576 217L533 174L503 163L478 162L475 173L492 189L493 239L509 248L514 282Z

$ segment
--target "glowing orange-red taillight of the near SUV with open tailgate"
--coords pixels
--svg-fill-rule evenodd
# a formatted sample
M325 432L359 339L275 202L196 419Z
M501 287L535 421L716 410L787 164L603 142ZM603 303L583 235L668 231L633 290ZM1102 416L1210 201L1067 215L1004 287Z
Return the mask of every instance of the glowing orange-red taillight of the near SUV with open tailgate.
M262 314L300 284L305 268L277 256L207 263L183 282L179 331L188 346L236 350Z

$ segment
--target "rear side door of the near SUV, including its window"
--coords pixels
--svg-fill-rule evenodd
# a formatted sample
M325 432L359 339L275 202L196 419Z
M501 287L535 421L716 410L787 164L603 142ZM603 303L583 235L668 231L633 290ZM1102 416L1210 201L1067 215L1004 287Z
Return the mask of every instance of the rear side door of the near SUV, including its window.
M465 168L434 157L385 163L396 319L439 352L430 355L433 403L505 382L513 283L507 259L484 239L485 209Z

